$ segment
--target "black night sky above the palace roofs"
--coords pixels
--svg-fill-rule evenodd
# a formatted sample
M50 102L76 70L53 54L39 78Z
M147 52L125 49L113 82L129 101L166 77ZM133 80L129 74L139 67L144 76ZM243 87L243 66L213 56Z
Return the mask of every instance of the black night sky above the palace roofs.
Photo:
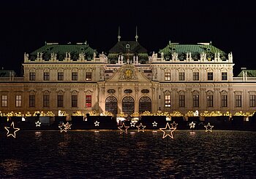
M135 39L149 52L168 41L212 42L233 52L235 75L241 67L256 69L255 1L1 1L0 67L20 72L24 52L45 41L88 41L107 52L117 41ZM253 65L252 65L253 64Z

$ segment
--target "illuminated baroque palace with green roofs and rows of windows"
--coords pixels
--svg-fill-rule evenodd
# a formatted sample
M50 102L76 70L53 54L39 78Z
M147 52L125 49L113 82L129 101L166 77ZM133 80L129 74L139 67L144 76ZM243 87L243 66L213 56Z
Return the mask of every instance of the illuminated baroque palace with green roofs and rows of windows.
M46 43L24 54L23 77L1 71L1 111L255 111L255 71L233 77L233 65L231 52L208 43L169 42L151 54L138 36L108 53Z

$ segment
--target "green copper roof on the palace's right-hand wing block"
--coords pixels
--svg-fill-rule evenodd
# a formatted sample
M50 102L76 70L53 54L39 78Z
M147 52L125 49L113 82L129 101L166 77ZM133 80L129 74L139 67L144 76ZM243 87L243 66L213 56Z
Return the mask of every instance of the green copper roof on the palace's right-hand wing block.
M225 52L218 49L217 47L214 47L211 44L168 44L167 47L164 49L160 49L159 53L164 52L164 54L171 54L173 52L176 52L178 54L187 52L191 52L192 55L198 55L202 52L206 53L217 53L219 52L220 55L226 55Z

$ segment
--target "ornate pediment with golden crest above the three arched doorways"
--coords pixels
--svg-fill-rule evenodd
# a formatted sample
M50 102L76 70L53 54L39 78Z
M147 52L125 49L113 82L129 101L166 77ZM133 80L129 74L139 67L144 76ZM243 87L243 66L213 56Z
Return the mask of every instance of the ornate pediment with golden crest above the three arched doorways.
M113 76L107 80L108 82L150 82L134 65L123 65L113 73Z

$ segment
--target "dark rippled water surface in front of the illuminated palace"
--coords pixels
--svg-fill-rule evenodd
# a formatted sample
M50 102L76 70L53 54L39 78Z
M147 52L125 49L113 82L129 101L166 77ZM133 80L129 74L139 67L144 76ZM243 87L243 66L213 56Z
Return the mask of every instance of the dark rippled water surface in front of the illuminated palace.
M256 178L256 132L131 132L1 132L0 178Z

